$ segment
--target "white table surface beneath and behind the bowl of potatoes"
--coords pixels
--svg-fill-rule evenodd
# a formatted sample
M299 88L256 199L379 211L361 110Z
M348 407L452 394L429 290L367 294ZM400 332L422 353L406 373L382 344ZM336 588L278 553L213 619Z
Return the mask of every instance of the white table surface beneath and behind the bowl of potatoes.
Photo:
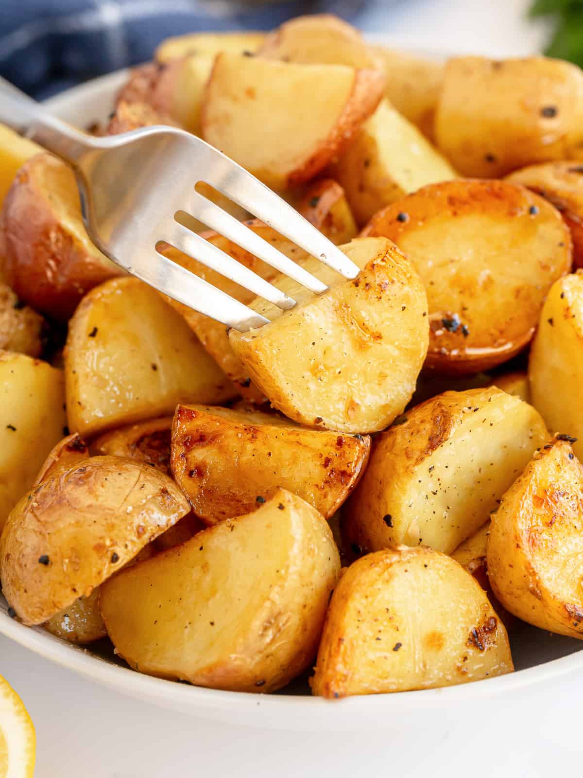
M526 0L403 0L365 14L368 30L417 48L529 54L544 40ZM227 727L118 695L0 636L0 673L37 729L37 778L223 776L547 776L581 770L583 678L542 685L494 709L435 717L429 731L387 720L375 733L297 734ZM249 722L247 723L249 724Z

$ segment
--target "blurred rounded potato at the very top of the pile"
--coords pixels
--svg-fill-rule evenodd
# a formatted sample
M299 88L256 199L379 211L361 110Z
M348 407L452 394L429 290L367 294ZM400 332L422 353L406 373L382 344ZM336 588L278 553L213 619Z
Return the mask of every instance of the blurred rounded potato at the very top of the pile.
M329 13L296 16L267 35L258 57L299 65L348 65L382 71L382 61L351 24Z

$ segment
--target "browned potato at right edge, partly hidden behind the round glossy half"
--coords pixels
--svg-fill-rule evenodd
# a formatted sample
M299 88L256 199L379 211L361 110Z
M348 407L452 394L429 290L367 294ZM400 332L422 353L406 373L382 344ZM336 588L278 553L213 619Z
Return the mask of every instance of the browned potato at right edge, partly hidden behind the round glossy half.
M583 268L583 165L565 161L531 165L506 180L529 187L561 212L571 230L574 265Z

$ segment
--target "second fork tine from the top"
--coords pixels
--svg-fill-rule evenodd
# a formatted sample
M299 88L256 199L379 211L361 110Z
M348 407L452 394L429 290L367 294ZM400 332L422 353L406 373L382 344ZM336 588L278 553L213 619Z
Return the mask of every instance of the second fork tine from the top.
M196 219L206 224L211 230L229 238L241 248L255 254L267 265L271 265L281 273L285 273L289 278L297 281L298 284L305 286L315 294L325 292L328 288L326 284L316 279L314 275L307 272L293 260L281 254L274 246L267 243L267 240L259 237L257 233L250 230L239 219L235 219L230 213L227 213L214 202L211 202L199 192L193 192L190 198L189 212ZM186 210L186 209L185 209Z

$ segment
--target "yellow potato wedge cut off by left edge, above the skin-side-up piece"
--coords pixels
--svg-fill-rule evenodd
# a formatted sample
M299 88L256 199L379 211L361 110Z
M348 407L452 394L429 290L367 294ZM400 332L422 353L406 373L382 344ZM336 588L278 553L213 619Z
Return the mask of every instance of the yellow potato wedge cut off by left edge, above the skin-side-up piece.
M61 440L65 379L40 359L0 352L0 530Z

